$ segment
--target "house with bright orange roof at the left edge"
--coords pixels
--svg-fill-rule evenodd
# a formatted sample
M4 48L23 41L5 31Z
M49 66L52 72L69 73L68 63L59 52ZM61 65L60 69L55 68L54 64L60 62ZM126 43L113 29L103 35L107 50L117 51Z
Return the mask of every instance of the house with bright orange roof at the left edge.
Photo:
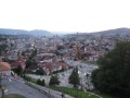
M0 75L10 76L11 75L11 66L6 62L0 62Z

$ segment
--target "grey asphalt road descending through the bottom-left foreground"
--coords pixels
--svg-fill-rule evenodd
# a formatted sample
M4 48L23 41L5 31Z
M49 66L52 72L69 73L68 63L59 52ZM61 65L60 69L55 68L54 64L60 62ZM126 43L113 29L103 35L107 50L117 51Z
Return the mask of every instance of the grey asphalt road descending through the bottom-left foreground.
M31 88L18 79L9 81L8 78L2 79L2 85L6 89L6 94L20 94L26 98L48 98L46 95L39 93L35 88Z

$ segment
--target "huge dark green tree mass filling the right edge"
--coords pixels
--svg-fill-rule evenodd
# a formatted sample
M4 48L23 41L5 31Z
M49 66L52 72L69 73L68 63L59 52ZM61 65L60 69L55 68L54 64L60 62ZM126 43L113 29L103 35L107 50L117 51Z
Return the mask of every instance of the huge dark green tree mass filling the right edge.
M119 41L115 49L98 60L92 73L95 89L114 95L130 94L130 42ZM130 97L130 95L129 95Z

